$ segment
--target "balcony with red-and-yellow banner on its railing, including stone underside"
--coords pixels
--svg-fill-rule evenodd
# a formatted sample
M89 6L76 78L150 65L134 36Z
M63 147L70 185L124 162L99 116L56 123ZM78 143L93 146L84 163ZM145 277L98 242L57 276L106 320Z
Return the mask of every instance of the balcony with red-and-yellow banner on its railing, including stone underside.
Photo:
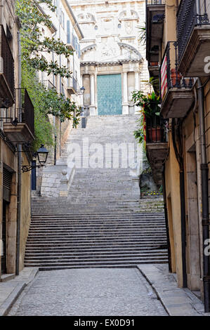
M194 103L192 86L193 79L185 78L178 72L178 47L176 41L169 41L166 45L162 64L161 77L161 114L166 118L183 118Z

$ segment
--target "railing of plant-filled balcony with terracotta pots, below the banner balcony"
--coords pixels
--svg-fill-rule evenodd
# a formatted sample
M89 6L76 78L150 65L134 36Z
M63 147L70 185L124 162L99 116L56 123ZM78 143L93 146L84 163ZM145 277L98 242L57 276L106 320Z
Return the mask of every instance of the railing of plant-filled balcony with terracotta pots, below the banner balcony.
M146 143L165 143L167 120L154 114L146 118Z

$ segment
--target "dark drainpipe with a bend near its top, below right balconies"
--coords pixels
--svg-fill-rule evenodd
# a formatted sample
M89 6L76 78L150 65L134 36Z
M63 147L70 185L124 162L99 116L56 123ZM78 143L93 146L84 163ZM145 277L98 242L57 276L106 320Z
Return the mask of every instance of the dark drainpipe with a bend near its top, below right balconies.
M181 246L182 246L182 266L183 266L183 288L188 287L187 268L186 268L186 224L185 224L185 173L183 158L178 152L175 140L175 121L172 119L172 141L176 159L180 167L179 183L181 198Z

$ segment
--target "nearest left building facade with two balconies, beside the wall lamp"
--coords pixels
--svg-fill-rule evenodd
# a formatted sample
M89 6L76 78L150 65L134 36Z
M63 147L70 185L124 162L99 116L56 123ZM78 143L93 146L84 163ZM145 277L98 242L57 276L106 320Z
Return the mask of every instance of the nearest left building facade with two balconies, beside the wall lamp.
M22 173L32 155L34 107L20 88L19 22L15 1L0 1L0 279L18 275L24 265L30 224L30 172Z

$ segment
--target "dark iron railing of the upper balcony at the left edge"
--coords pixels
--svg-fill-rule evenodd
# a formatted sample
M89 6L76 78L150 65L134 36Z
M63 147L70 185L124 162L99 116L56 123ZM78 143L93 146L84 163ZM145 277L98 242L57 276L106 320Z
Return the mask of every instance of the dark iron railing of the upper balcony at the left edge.
M14 60L13 54L11 52L11 48L8 44L8 40L6 38L6 33L4 32L4 26L0 25L0 33L1 33L1 58L2 58L2 74L4 74L4 78L6 80L6 84L8 88L10 88L11 95L14 98L14 88L15 88L15 75L14 75Z

